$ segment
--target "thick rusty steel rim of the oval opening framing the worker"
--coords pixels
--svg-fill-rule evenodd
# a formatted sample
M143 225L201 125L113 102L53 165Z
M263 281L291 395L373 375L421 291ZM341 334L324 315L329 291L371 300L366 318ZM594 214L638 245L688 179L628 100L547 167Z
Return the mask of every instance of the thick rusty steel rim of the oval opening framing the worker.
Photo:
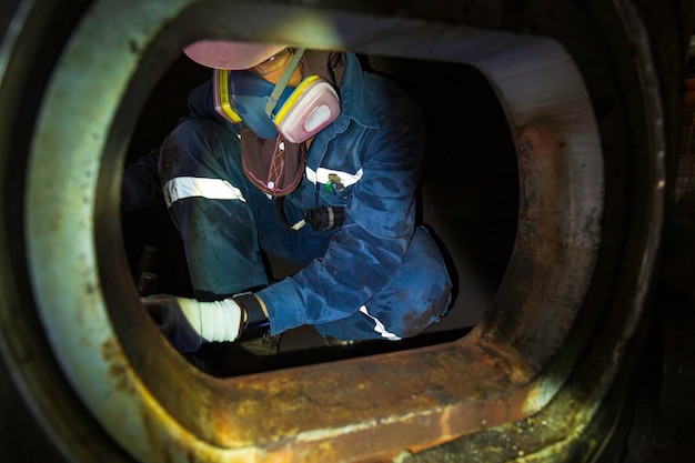
M592 422L611 422L597 410L611 399L606 392L641 318L661 224L662 114L648 43L632 3L587 3L611 26L602 23L612 52L627 57L616 64L626 69L624 80L632 84L626 89L644 90L631 99L628 129L623 114L612 112L614 102L588 94L601 97L604 85L613 90L617 80L601 80L605 74L593 73L593 57L581 56L577 43L563 42L563 23L553 16L563 6L573 20L597 28L574 2L540 0L518 14L507 12L506 2L372 3L103 0L93 3L66 47L30 150L30 296L60 378L74 390L72 399L132 457L148 463L390 461L416 452L426 457L434 453L425 449L453 441L446 449L471 461L550 461L580 447L592 455L601 445L601 433L585 430ZM465 13L464 4L473 12ZM464 23L469 20L473 23ZM278 27L292 21L308 32ZM556 40L514 34L524 28ZM112 172L135 119L133 101L154 84L157 64L161 70L205 30L240 40L295 39L471 62L494 82L517 140L522 204L507 274L470 335L416 351L226 380L197 371L164 344L122 262ZM593 44L592 51L601 50ZM634 60L642 60L644 72L631 68ZM142 61L155 70L140 69ZM601 68L603 61L596 62ZM584 82L581 70L592 79ZM600 140L598 133L613 131L617 141ZM648 143L628 150L624 141L632 137L625 132ZM629 227L615 227L627 232L610 242L624 246L624 254L605 259L608 263L594 273L600 251L604 258L612 251L600 242L601 227L615 224L613 215L624 219L614 204L632 187L628 173L618 169L621 159L604 172L604 145L612 148L610 155L628 154L623 169L636 167L644 177L635 183L644 185L632 192L633 214L624 214L632 218L625 219ZM608 173L620 182L608 201L614 214L605 218ZM611 278L608 289L596 290L602 283L596 274ZM3 312L3 333L11 331L8 320ZM38 323L34 331L41 332ZM50 387L32 386L32 393L46 394L41 406L50 406ZM63 417L54 413L51 420ZM60 430L66 447L84 446L83 436L64 426L51 429ZM516 443L520 434L531 434L523 441L527 445Z

